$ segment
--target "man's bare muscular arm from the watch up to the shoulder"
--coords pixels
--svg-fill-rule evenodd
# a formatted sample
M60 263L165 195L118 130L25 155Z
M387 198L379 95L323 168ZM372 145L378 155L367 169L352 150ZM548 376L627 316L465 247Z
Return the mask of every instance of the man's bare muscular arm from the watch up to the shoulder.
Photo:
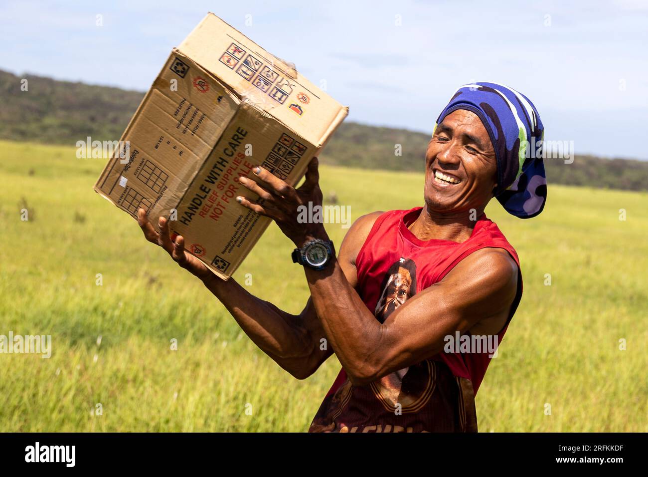
M473 252L443 280L417 293L380 323L341 273L306 269L312 300L353 384L418 363L442 352L446 337L490 323L496 334L517 293L518 267L505 251Z

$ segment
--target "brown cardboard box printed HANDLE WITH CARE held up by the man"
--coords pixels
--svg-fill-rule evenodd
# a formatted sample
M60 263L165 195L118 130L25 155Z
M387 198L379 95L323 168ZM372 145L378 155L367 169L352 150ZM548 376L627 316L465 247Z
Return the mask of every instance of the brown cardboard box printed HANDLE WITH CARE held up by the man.
M238 183L262 164L295 185L349 109L214 14L173 49L95 191L157 228L227 280L270 219L242 207ZM288 251L286 251L288 257Z

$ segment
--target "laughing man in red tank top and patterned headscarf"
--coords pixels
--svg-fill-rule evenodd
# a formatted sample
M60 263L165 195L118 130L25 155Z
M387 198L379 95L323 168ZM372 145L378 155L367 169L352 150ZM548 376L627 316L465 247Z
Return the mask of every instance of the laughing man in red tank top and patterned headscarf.
M424 205L358 218L337 253L321 223L297 220L300 206L322 201L316 159L298 189L262 167L254 180L241 178L251 194L240 204L272 217L297 247L292 259L310 287L299 315L214 276L182 237L172 241L167 220L158 234L140 210L139 224L296 378L336 354L342 369L310 432L475 432L489 350L445 345L457 332L500 343L518 307L518 256L484 209L496 197L517 217L542 212L544 165L541 154L527 154L542 136L524 95L495 83L462 86L428 145Z

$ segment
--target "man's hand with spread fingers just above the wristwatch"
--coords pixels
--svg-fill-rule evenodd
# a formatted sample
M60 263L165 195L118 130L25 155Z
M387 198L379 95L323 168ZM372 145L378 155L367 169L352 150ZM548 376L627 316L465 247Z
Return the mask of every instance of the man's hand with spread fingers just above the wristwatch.
M257 166L252 171L257 176L257 181L241 177L239 182L259 195L260 201L253 202L247 197L239 196L237 201L242 206L273 219L284 235L291 239L297 247L301 247L313 238L328 238L323 224L308 223L308 221L300 223L297 220L300 206L308 207L308 202L312 202L313 207L321 206L322 192L319 189L318 158L314 157L308 163L306 180L298 189L289 186L263 167Z

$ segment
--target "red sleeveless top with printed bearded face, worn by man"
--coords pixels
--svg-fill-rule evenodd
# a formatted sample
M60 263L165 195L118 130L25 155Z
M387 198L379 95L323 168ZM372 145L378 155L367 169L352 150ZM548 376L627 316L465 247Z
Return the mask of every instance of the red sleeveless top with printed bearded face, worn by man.
M522 297L515 249L485 214L461 243L420 240L408 226L421 207L380 215L356 258L356 290L383 323L417 292L441 281L457 263L485 247L505 249L518 264L518 291L496 343ZM490 350L441 352L363 386L351 385L342 369L324 398L309 432L476 431L474 395L490 363Z

